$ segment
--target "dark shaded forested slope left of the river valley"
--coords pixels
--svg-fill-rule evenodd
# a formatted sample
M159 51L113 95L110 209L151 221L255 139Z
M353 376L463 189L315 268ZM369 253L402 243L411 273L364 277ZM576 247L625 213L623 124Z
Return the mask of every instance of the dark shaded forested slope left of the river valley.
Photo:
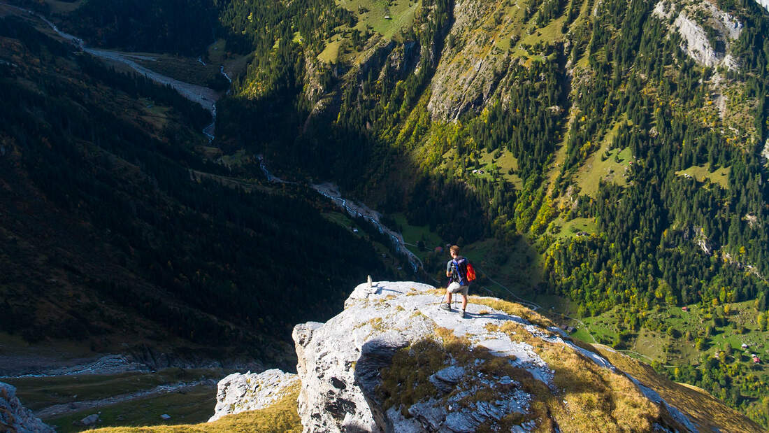
M319 195L207 158L199 105L13 16L0 116L0 330L29 342L276 360L295 323L391 275Z

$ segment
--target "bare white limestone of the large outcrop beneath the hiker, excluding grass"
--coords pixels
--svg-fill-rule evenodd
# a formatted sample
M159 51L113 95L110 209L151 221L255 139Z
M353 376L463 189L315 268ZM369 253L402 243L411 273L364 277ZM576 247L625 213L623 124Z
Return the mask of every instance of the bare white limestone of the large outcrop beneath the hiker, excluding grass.
M431 371L428 377L433 395L408 408L385 407L378 391L382 369L391 365L401 349L411 351L411 345L418 341L438 338L438 328L466 338L470 351L503 358L515 371L531 381L541 381L553 392L558 392L556 371L538 354L540 349L529 344L531 341L541 341L537 346L574 351L598 368L616 371L605 358L574 345L558 328L543 328L473 302L463 319L456 309L439 309L440 302L440 292L429 285L408 281L369 285L367 281L345 301L345 310L325 324L297 325L298 413L304 430L460 432L516 418L521 419L520 424L512 425L511 431L535 428L537 421L527 418L536 399L527 391L531 388L494 369L480 368L486 362L483 358L469 365L466 360L464 365L453 358L446 360L443 368ZM521 341L494 331L511 321L525 337Z

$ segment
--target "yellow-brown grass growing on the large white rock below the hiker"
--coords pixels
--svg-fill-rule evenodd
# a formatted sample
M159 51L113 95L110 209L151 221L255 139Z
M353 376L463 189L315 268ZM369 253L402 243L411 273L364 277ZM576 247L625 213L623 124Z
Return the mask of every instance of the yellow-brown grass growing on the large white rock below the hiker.
M537 420L538 431L551 431L554 425L564 432L651 431L655 423L676 426L666 411L646 398L627 376L596 365L573 348L543 341L514 321L488 327L488 331L502 331L515 341L531 345L554 371L555 390L534 379L524 368L514 367L514 358L491 355L485 348L473 346L468 338L457 337L451 329L436 328L435 339L418 341L402 349L394 356L392 365L383 369L378 392L385 407L400 408L408 417L409 406L436 395L428 378L453 359L468 369L468 377L507 375L534 397L528 415L511 415L495 425L481 425L478 431L509 428L528 419ZM483 362L475 362L478 359ZM464 398L461 405L472 407L476 401L494 398L499 391L498 387L481 386Z

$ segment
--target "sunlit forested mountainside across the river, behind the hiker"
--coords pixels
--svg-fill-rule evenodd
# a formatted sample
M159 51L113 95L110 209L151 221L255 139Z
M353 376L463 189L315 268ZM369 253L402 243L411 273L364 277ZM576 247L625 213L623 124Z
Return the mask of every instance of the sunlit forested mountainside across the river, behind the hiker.
M446 241L524 237L543 278L512 284L611 311L617 348L667 330L661 364L694 367L662 370L767 422L766 371L718 336L767 326L760 5L254 1L221 24L255 50L221 143ZM671 337L687 305L701 325Z

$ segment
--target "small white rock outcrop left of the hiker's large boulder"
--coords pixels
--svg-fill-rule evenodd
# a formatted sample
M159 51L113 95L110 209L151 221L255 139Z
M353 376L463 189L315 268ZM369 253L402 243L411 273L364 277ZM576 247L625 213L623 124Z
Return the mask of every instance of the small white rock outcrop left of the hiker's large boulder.
M238 414L267 408L298 386L298 377L291 373L272 369L259 374L248 371L245 375L233 373L221 379L216 394L214 415L208 422Z

